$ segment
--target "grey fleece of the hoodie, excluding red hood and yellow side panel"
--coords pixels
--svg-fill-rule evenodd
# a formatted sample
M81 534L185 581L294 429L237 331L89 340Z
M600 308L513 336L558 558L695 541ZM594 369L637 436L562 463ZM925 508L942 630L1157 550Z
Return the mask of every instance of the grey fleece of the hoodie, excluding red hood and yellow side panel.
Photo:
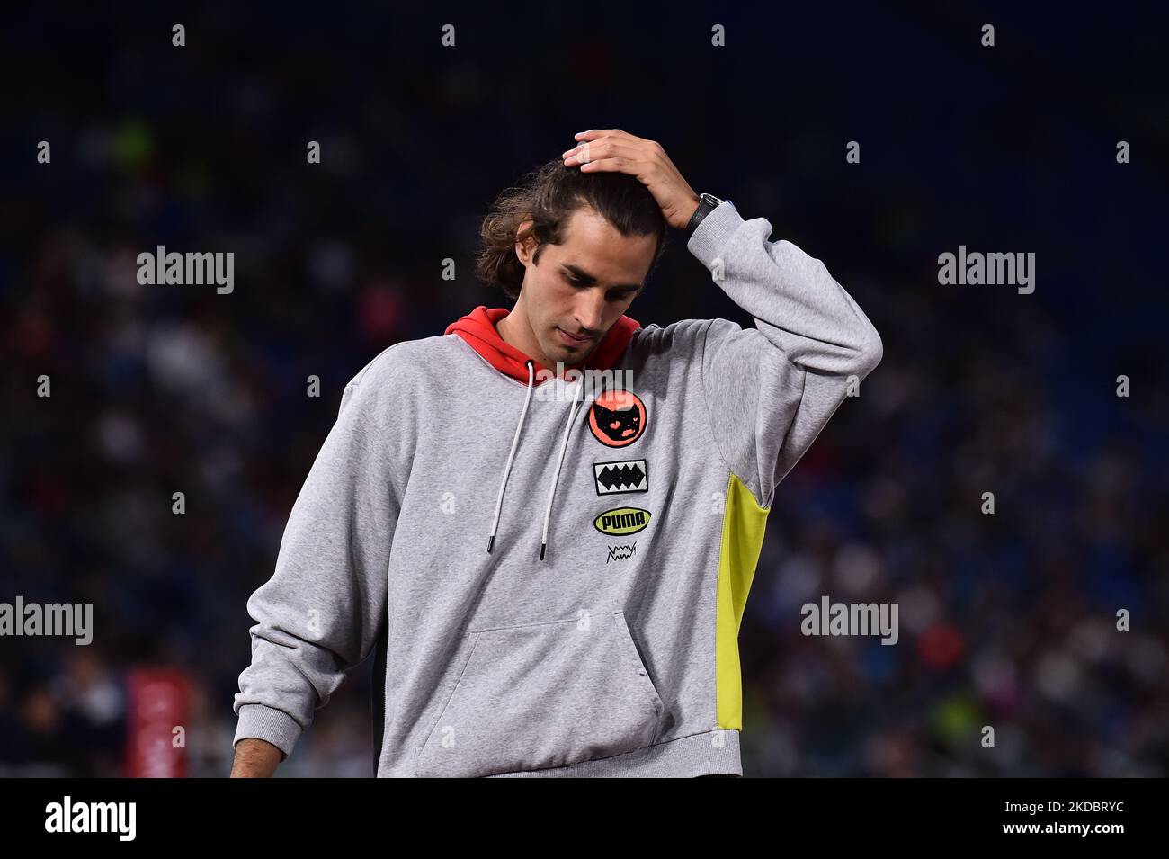
M361 369L248 601L236 742L290 754L378 651L378 776L741 774L715 701L719 499L734 474L769 507L881 358L824 265L770 233L729 201L699 224L690 252L756 327L635 332L614 369L644 411L563 379L528 396L455 334Z

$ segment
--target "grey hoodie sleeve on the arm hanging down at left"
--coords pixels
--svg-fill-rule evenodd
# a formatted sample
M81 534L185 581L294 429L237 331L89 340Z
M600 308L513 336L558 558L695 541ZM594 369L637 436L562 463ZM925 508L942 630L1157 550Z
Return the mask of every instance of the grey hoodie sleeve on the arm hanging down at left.
M345 671L372 652L386 616L400 505L389 452L393 414L368 369L345 387L292 506L275 571L248 600L256 623L251 664L240 674L233 707L240 718L235 742L267 740L284 757Z

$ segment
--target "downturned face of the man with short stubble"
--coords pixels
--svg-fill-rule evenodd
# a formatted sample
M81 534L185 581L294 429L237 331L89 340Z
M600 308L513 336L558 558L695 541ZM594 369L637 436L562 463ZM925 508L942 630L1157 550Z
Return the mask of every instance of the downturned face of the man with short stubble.
M590 208L573 213L562 238L544 245L539 263L534 238L516 244L527 269L517 306L526 311L549 368L593 354L641 292L656 245L653 236L622 236Z

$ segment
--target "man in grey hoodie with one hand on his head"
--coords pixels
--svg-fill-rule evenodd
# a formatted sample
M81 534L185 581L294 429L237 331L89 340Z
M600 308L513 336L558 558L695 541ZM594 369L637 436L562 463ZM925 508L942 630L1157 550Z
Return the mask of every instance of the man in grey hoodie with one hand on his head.
M484 221L511 312L346 386L248 602L233 775L271 775L369 653L378 776L742 774L738 632L775 487L881 341L658 144L575 139ZM666 226L756 327L625 316Z

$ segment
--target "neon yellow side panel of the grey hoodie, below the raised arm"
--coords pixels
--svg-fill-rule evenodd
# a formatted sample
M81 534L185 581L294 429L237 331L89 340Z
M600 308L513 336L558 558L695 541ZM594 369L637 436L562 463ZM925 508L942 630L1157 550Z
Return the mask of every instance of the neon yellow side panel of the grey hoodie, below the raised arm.
M760 507L734 474L727 483L719 550L719 594L714 619L714 690L718 727L742 730L739 623L763 547L769 507Z

